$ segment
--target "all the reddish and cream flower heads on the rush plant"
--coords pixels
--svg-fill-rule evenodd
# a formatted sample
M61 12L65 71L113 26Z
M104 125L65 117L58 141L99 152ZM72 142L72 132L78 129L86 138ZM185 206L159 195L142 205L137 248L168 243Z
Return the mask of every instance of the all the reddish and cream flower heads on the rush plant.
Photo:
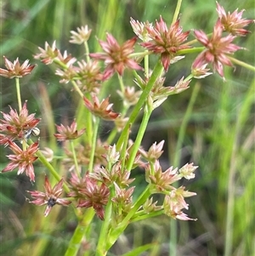
M236 9L234 13L226 14L224 8L217 3L218 20L213 28L212 36L208 37L204 31L194 31L197 42L204 46L201 54L199 54L193 62L191 75L189 79L182 77L174 86L164 86L165 78L157 77L156 82L148 96L148 102L156 108L158 105L167 99L171 94L178 94L189 88L190 79L192 77L202 78L211 75L207 68L208 64L212 64L213 71L217 71L221 77L224 77L224 65L232 66L229 59L230 54L241 49L241 47L232 43L235 37L245 36L248 31L245 26L254 22L254 20L242 19L242 13L238 13ZM136 74L135 83L139 86L139 91L134 87L125 87L122 91L118 91L123 101L125 112L122 115L112 110L112 104L109 97L104 100L99 100L99 89L105 80L110 79L115 73L122 77L126 69L141 71L143 68L139 65L138 60L134 59L134 46L138 39L139 43L145 48L145 54L158 54L161 60L161 65L164 71L167 71L170 65L176 61L182 60L186 52L191 48L189 43L186 43L190 31L183 31L180 26L180 20L176 20L171 26L167 26L166 22L160 16L153 25L146 22L135 21L131 19L131 26L134 33L139 37L133 37L124 43L118 43L116 38L110 33L106 34L106 41L99 40L99 44L103 49L102 53L87 53L86 60L77 61L71 54L65 51L61 54L59 48L56 47L56 42L50 46L45 43L45 48L39 48L40 53L34 56L37 60L42 60L42 63L57 65L55 74L60 77L60 82L71 82L75 90L82 96L85 107L96 118L104 119L105 121L115 122L116 130L121 131L126 125L128 108L136 105L142 91L148 86L150 81L150 72L147 71L144 78ZM226 35L224 35L224 32ZM71 43L86 45L91 34L88 26L77 28L77 31L71 31ZM12 63L6 57L3 57L7 69L0 68L0 76L8 78L20 78L30 74L36 65L30 65L26 60L20 65L19 58ZM104 64L102 70L101 62ZM84 96L86 94L86 97ZM88 96L89 95L89 96ZM38 135L37 128L39 118L35 114L28 114L27 104L21 107L20 112L10 107L8 114L1 112L3 119L0 119L0 144L8 146L13 154L8 155L10 162L3 169L3 172L13 171L18 168L18 174L26 173L26 175L35 181L35 172L33 163L38 157L53 159L54 155L50 149L39 151L39 142L28 143L31 135ZM66 145L65 142L70 142L73 139L79 139L83 134L86 134L85 128L77 129L77 122L74 120L71 126L56 125L57 133L54 134L56 139L64 142L65 148L65 166L71 171L71 178L67 181L59 179L58 183L52 186L49 183L48 177L45 176L44 192L28 191L33 200L31 203L37 205L46 205L45 216L50 213L55 204L68 206L71 200L60 198L63 187L68 197L72 197L77 201L78 208L94 208L99 219L105 218L105 206L111 200L113 205L113 213L116 221L121 221L133 207L133 179L130 179L130 170L126 169L125 162L130 159L130 151L132 150L133 142L130 142L126 154L116 151L116 145L108 145L106 142L98 142L94 149L94 169L88 170L84 174L84 166L87 168L90 158L91 145L76 145L74 151ZM15 140L20 142L18 145ZM175 188L173 183L179 179L193 179L194 171L197 168L193 163L187 163L182 168L167 168L162 171L159 157L162 154L164 142L153 144L148 151L139 149L135 159L133 160L132 168L144 169L145 180L150 186L150 196L138 209L138 213L148 214L156 211L166 213L174 219L190 219L183 209L188 208L188 204L184 201L185 197L194 196L194 192L184 191L184 186ZM76 161L74 159L76 158ZM131 169L132 169L131 168ZM83 170L83 172L82 172ZM113 191L113 193L111 193ZM153 199L154 194L164 196L163 203L158 205Z

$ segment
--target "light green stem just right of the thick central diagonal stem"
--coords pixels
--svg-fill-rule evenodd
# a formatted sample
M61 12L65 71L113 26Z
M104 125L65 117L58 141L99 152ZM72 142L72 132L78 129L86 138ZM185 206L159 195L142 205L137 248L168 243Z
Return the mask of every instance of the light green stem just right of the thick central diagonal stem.
M152 111L153 111L153 109L149 104L145 105L145 107L144 107L144 117L143 117L143 120L140 124L139 132L138 132L138 134L136 136L136 139L133 143L132 151L130 152L130 155L129 155L129 158L128 158L128 161L127 161L127 171L128 172L131 171L131 169L132 169L133 161L135 159L137 151L139 150L139 146L141 145L141 141L144 137L144 132L147 128L147 124L149 122L150 115L151 115Z

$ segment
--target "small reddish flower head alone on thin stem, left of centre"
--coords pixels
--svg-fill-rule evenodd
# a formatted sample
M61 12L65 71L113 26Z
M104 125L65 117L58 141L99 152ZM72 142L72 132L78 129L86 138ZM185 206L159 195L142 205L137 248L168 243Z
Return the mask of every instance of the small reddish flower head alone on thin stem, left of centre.
M57 125L56 128L59 134L54 134L54 136L59 141L69 140L69 139L77 139L85 132L85 128L77 131L77 122L74 120L71 123L71 126L64 126L63 124Z

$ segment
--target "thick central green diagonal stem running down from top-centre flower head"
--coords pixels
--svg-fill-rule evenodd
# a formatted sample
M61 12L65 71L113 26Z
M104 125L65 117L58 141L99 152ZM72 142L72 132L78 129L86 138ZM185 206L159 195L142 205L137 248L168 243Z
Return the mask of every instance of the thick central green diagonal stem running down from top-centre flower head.
M148 98L148 95L150 94L150 90L153 87L154 83L156 82L156 79L161 76L162 71L163 71L163 67L161 65L161 61L158 60L158 62L156 63L156 66L150 76L149 82L147 83L146 87L144 88L144 91L141 94L138 103L133 108L133 111L130 114L129 120L128 120L125 128L123 128L122 134L116 143L117 151L120 151L123 142L127 139L126 137L128 137L129 129L133 125L133 122L135 121L135 119L138 117L139 111L141 110L142 106L144 105L145 100ZM126 151L126 149L122 149L122 151Z

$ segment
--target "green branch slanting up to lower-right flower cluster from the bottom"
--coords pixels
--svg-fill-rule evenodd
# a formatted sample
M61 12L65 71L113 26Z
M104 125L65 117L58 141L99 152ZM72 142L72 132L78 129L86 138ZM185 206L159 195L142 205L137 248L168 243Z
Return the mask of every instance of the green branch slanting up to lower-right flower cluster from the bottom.
M122 232L127 228L133 215L139 209L139 207L147 200L150 196L150 185L147 185L143 193L139 196L138 200L134 203L133 208L127 213L127 216L122 220L122 222L116 226L114 230L111 230L109 236L107 237L106 251L108 251L111 246L116 242L117 238L122 234Z

